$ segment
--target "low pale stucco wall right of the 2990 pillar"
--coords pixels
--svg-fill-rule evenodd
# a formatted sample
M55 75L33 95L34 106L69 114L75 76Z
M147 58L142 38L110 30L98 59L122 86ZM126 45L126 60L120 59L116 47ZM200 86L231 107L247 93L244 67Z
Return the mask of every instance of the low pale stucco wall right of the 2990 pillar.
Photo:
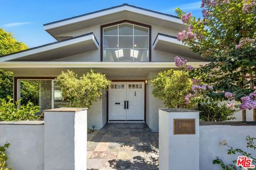
M231 125L207 125L200 126L200 169L221 169L219 165L213 165L212 161L218 156L227 165L237 159L238 155L227 155L227 146L220 144L226 140L229 146L239 148L253 154L255 150L246 148L245 137L256 137L256 126L231 126Z

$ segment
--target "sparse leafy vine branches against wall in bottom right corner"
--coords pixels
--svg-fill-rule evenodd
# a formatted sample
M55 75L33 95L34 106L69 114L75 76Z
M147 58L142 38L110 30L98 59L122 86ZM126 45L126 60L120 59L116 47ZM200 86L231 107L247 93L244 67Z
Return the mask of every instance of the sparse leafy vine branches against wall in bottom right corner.
M253 150L256 151L256 143L255 141L256 138L251 138L249 135L246 137L246 147L247 148L251 148ZM226 144L226 141L225 141L225 144L224 145L227 145ZM252 159L252 164L256 166L256 158L252 156L252 154L249 154L245 151L243 151L242 149L234 149L233 147L227 145L227 147L229 148L227 151L227 154L228 155L235 155L235 154L239 154L239 156L246 156L250 159ZM253 151L255 153L255 151ZM237 163L237 160L234 160L233 163ZM214 159L213 160L213 164L218 164L221 166L222 169L226 169L226 170L236 170L238 167L236 165L233 165L233 164L229 164L229 165L226 165L219 157L217 157L217 159ZM239 167L239 169L241 169L242 167Z

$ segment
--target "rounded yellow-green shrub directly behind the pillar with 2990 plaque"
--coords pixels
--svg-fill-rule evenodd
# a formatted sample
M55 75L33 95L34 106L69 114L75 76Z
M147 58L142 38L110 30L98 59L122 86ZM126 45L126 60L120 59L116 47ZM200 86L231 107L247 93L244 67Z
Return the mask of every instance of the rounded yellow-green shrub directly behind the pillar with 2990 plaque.
M164 101L166 107L190 108L194 104L185 101L192 87L186 71L170 69L160 72L151 79L151 87L154 87L153 96Z

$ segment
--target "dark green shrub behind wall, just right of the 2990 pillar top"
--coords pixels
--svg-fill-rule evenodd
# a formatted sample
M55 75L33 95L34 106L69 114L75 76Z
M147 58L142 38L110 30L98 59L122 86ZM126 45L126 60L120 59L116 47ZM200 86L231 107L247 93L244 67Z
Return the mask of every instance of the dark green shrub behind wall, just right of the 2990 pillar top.
M228 121L233 120L235 109L227 107L225 104L212 101L211 103L200 103L197 108L200 111L199 117L202 121Z

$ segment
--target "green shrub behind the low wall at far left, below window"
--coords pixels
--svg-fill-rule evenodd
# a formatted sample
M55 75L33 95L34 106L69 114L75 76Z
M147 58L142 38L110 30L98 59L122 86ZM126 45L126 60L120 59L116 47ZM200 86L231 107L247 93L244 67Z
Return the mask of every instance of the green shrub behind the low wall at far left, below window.
M33 121L38 118L39 106L28 102L27 105L20 105L21 100L15 104L13 99L9 96L7 99L0 99L0 121Z

